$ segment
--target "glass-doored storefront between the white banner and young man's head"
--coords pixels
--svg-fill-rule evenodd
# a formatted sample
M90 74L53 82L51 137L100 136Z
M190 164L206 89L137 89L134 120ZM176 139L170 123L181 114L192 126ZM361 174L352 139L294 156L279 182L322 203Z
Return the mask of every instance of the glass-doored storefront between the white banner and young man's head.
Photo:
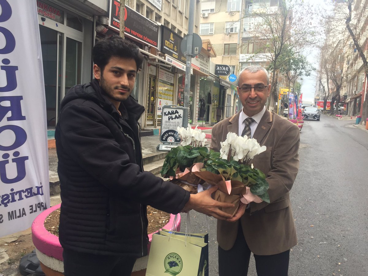
M93 10L91 1L86 2L90 14L62 1L37 1L48 128L56 126L68 90L92 78L93 15L106 11Z

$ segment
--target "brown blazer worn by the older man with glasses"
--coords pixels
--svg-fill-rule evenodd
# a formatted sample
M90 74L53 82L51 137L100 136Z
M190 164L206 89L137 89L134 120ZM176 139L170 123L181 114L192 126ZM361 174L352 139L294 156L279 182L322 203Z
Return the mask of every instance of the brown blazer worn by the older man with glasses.
M213 150L220 151L220 142L225 141L228 132L238 134L239 116L240 113L213 126ZM271 203L251 202L240 222L250 250L256 255L273 255L297 244L289 191L299 169L299 128L266 109L253 138L267 147L251 163L266 174ZM233 247L238 223L217 220L217 242L224 250Z

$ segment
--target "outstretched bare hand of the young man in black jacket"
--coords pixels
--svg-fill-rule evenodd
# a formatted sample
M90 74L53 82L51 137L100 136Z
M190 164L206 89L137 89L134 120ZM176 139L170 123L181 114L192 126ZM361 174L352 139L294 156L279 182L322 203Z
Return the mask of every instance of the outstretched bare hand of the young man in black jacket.
M223 207L223 208L234 207L234 204L226 203L226 202L219 202L211 198L211 194L215 192L217 189L218 187L216 185L212 188L209 188L206 191L199 192L198 194L195 194L195 195L191 194L189 201L187 202L187 204L185 204L182 212L193 209L193 210L196 210L197 212L204 213L205 215L213 216L216 219L221 219L221 220L233 219L231 215L221 211L219 208L220 207ZM236 220L237 219L235 219L234 221Z

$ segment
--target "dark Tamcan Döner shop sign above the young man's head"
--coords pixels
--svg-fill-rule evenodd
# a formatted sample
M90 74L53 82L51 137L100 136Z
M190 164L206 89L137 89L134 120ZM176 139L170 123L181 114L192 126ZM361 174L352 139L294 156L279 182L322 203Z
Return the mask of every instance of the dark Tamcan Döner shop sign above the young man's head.
M120 2L111 0L110 5L110 27L119 31L120 28ZM141 14L125 6L125 35L131 36L135 39L149 44L155 48L158 46L159 40L159 26L148 20Z

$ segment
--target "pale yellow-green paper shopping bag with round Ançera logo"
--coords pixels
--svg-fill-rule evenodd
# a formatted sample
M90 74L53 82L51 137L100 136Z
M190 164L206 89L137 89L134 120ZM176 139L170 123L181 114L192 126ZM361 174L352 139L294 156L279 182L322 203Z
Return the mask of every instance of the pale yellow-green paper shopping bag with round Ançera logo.
M146 276L204 276L208 244L197 238L189 242L178 237L153 234Z

